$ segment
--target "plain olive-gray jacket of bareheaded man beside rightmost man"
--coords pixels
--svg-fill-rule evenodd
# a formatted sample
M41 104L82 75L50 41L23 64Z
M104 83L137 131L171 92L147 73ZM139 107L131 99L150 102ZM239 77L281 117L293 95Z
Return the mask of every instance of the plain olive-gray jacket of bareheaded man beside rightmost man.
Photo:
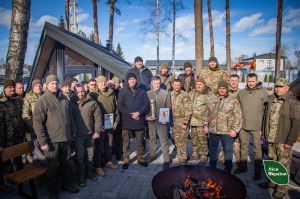
M245 130L262 130L264 110L268 102L268 92L263 88L241 90L237 95L242 108L243 125Z

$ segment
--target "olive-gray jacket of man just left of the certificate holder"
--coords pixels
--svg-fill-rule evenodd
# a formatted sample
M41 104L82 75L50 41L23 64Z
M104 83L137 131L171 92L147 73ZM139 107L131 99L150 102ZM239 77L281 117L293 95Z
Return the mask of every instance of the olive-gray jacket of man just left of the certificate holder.
M95 100L87 96L85 100L78 101L76 97L71 101L72 113L76 126L75 136L100 134L102 129L102 114Z

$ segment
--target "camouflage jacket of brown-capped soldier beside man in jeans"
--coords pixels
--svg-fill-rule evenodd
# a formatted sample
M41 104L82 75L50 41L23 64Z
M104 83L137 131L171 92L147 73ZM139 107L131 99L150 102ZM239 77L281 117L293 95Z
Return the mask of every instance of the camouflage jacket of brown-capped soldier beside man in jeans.
M191 126L205 126L208 124L208 109L207 103L209 99L213 96L212 92L208 92L206 88L202 93L196 89L189 93L192 100L192 118Z

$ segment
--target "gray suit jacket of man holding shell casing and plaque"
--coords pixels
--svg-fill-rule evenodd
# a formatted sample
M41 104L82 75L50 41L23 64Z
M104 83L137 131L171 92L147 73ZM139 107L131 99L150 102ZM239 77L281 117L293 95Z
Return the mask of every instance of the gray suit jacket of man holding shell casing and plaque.
M169 108L169 114L171 114L171 96L168 91L164 89L159 89L158 91L149 90L147 92L147 96L149 98L149 102L151 102L151 100L155 101L155 117L157 120L154 122L158 122L160 108ZM150 115L150 109L148 115Z

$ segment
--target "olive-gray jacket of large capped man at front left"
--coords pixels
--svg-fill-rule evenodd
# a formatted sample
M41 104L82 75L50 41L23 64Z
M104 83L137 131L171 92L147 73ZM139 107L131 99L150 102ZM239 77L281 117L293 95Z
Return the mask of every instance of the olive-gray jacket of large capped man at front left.
M64 95L47 90L39 97L33 112L33 128L41 146L66 142L71 137L71 125L74 130L69 101Z

